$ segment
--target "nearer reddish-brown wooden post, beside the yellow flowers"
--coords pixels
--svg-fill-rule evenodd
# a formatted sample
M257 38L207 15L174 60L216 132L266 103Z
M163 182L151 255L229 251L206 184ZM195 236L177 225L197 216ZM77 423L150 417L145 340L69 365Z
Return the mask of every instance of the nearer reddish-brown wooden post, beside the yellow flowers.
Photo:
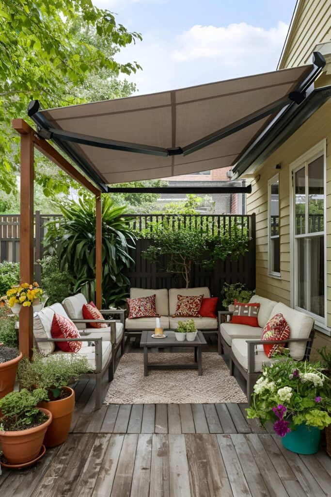
M21 133L21 209L20 209L20 282L33 283L33 186L34 144L31 133ZM23 307L19 313L19 350L32 356L33 311Z

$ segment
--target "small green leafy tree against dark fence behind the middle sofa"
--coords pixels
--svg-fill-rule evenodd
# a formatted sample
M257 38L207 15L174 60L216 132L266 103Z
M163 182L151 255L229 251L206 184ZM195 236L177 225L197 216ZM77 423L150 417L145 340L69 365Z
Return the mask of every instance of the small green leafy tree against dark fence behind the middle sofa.
M149 223L142 236L151 243L142 255L160 269L181 274L186 288L193 265L212 268L219 259L237 260L248 251L250 240L247 230L237 226L231 227L231 235L227 227L219 234L213 232L207 218L201 218L197 226L190 223L187 226L181 216Z

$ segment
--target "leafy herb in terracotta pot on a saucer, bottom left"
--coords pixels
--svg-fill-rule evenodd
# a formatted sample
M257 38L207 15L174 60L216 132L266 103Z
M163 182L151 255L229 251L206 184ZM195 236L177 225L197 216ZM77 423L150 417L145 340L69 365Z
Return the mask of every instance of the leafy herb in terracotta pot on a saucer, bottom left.
M37 407L47 399L44 389L10 392L0 400L0 445L9 465L28 465L40 456L52 413Z

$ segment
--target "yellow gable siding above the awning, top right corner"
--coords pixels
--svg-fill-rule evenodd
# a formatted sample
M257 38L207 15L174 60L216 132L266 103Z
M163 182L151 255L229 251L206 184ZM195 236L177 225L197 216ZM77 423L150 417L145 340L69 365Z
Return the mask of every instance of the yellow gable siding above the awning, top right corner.
M331 40L331 0L301 0L279 69L307 64L318 43Z

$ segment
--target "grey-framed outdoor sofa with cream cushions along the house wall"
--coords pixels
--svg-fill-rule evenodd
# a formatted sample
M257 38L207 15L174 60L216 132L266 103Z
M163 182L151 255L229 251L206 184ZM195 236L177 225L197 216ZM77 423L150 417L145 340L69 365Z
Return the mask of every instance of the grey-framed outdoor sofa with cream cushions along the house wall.
M272 359L265 355L263 344L276 341L261 340L262 331L270 318L281 313L286 319L290 336L286 342L290 356L297 360L309 359L314 339L314 319L307 314L296 311L281 302L254 295L249 303L260 303L258 314L259 327L233 324L226 321L228 311L220 311L218 331L218 353L227 352L230 356L230 374L236 366L247 381L247 399L250 403L253 387L259 378L263 364L270 364ZM278 343L284 343L280 340Z

